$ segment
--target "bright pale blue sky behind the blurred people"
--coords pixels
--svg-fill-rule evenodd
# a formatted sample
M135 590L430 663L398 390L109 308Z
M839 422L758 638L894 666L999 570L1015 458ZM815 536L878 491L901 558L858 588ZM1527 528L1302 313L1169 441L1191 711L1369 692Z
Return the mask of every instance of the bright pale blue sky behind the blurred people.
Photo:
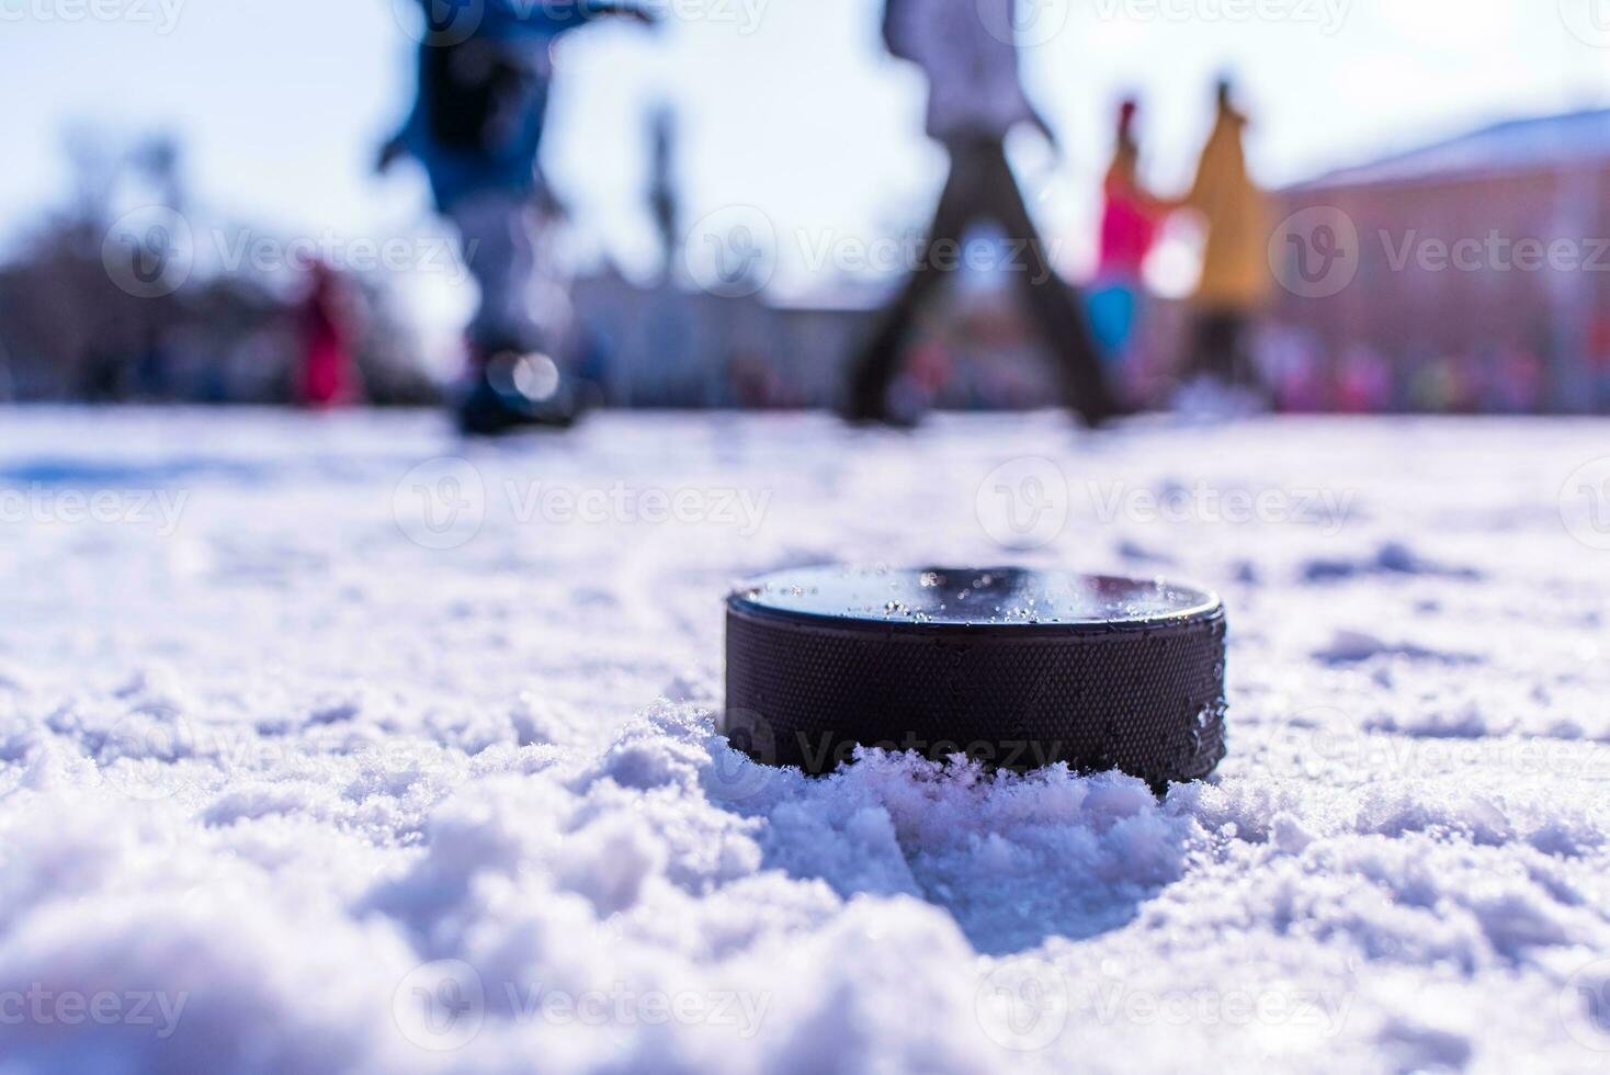
M921 135L921 79L879 51L877 0L657 2L665 26L591 27L559 55L546 159L583 246L649 264L642 129L657 100L681 119L691 220L747 204L786 235L877 237L926 217L943 158ZM1027 2L1056 27L1024 66L1063 153L1027 137L1014 164L1074 269L1125 90L1145 100L1164 187L1188 177L1220 69L1245 82L1269 183L1489 119L1610 105L1610 0ZM287 235L430 230L412 169L369 174L406 109L411 3L0 0L0 237L60 200L74 121L177 132L219 217Z

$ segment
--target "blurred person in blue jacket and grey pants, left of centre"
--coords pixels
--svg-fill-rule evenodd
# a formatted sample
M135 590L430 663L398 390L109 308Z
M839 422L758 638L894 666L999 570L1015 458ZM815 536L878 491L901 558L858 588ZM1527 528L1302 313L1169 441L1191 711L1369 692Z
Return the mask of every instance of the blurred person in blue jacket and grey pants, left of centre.
M436 209L459 233L481 298L469 327L472 385L459 404L465 433L568 426L580 414L531 309L538 217L557 204L538 163L547 126L554 40L597 18L652 23L625 3L536 5L483 0L464 37L460 5L420 0L427 32L419 90L402 130L380 153L386 171L414 156ZM464 40L457 40L464 37Z

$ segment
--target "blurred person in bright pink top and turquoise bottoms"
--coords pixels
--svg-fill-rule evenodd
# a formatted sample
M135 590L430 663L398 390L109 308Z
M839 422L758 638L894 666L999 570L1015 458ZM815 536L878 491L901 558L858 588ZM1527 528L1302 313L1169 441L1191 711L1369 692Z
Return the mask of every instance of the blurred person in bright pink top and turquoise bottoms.
M1170 209L1167 201L1153 196L1140 180L1140 142L1135 138L1138 109L1133 98L1119 105L1113 163L1101 183L1101 246L1090 291L1090 328L1116 383L1122 383L1145 294L1141 269Z

